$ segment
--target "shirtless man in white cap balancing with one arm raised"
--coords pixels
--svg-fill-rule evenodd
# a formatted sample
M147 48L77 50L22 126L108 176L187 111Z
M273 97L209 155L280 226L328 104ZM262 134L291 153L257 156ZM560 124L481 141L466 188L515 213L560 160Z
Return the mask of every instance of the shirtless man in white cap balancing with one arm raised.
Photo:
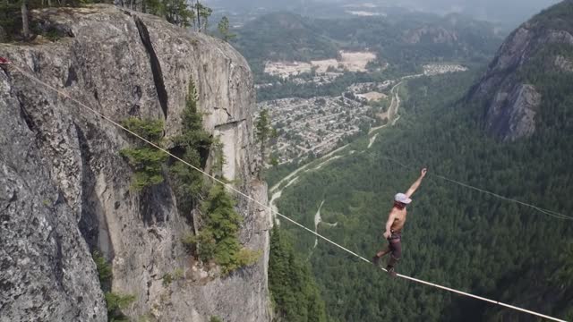
M394 207L390 210L388 221L386 222L386 231L384 232L384 238L388 240L388 247L385 250L381 250L372 258L374 265L378 266L380 264L380 259L382 256L390 253L390 258L388 261L389 275L396 276L396 264L400 257L402 256L402 228L406 223L406 206L412 202L410 197L414 192L420 187L423 177L426 175L428 170L423 168L418 180L416 180L410 189L406 193L397 193L394 196Z

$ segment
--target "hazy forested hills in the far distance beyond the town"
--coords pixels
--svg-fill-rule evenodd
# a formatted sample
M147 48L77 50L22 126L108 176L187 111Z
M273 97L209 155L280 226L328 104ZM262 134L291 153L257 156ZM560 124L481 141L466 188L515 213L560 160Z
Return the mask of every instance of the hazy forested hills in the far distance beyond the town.
M401 13L388 17L313 19L269 13L237 30L234 46L258 72L268 60L336 58L338 50L377 53L380 64L407 71L428 61L484 62L500 44L488 22L450 14Z

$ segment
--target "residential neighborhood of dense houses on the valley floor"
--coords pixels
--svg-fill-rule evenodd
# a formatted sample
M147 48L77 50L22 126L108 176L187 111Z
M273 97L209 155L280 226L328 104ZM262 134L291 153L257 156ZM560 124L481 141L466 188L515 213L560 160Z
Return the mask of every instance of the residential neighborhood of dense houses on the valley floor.
M272 126L278 131L272 152L278 163L320 157L359 131L380 124L369 103L386 97L372 89L385 89L388 85L353 84L339 97L290 97L259 103L259 110L269 110ZM360 93L359 89L367 92Z

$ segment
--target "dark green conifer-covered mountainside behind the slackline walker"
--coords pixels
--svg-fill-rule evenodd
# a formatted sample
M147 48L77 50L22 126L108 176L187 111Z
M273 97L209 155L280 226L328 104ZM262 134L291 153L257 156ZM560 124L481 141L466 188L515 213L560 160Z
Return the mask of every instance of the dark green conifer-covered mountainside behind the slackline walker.
M482 77L463 72L408 80L401 89L396 126L381 130L371 148L366 140L357 142L348 148L354 153L302 174L283 191L279 210L312 227L324 201L323 221L337 225L319 225L319 233L372 256L385 243L382 227L394 194L405 191L427 166L429 175L408 210L398 272L573 318L573 72L567 68L572 46L559 40L571 35L570 8L571 1L557 4L519 29L531 29L539 39L526 43L525 53L531 54L520 57L527 63L504 70L499 80L492 78L496 66L515 54L510 44L522 31L510 36ZM546 46L555 33L559 41ZM495 85L487 87L492 80ZM487 126L488 120L504 117L492 114L488 98L514 84L538 93L535 131L504 140ZM509 110L514 106L509 104ZM437 175L552 212L469 190ZM310 258L333 321L535 320L390 279L327 243L319 241L314 248L312 235L288 223L281 227L295 234L295 249Z

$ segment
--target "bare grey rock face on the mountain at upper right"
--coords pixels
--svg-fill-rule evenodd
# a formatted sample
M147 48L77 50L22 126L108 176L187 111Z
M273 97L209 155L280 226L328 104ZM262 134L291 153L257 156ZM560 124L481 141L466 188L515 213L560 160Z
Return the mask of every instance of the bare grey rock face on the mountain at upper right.
M573 46L573 2L566 0L536 15L513 31L501 45L487 72L468 95L485 102L483 124L500 140L517 140L535 133L543 96L524 77L529 68L542 73L571 72L572 58L548 48ZM536 66L535 66L536 65Z

